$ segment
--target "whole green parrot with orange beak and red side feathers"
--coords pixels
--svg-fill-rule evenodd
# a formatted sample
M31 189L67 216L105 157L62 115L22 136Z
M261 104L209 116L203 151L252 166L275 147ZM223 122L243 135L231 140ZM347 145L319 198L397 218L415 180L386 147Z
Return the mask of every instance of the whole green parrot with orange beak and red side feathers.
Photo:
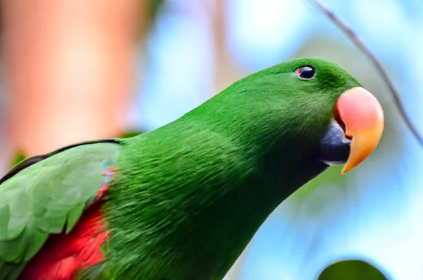
M303 58L149 133L27 158L0 179L0 279L222 279L283 200L383 128L355 78Z

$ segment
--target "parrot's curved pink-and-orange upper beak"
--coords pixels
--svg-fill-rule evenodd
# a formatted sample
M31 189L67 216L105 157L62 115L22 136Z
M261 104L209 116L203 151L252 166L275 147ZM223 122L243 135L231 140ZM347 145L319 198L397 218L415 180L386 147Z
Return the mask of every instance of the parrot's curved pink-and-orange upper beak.
M379 101L362 87L344 92L336 102L336 118L353 138L350 156L342 169L347 173L371 154L384 131L384 110Z

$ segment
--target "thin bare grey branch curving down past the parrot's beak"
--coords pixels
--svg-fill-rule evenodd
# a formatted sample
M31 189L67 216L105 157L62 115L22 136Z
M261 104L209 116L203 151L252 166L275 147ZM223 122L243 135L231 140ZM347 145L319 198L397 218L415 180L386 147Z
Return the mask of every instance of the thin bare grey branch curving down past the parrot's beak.
M333 11L330 11L329 8L326 8L323 4L320 3L318 0L308 0L311 4L314 4L314 6L317 6L320 11L322 11L328 18L330 18L333 23L335 23L338 28L343 30L345 34L351 39L351 41L359 48L361 49L364 54L366 54L369 59L374 63L374 66L376 66L377 70L381 74L382 78L384 79L386 85L388 85L389 90L391 90L391 93L393 95L393 100L396 106L398 107L398 110L400 111L400 115L403 117L405 124L410 128L412 134L417 138L420 145L423 146L423 137L420 135L417 128L413 125L410 116L407 115L407 111L405 110L405 106L403 102L400 99L400 95L398 94L398 91L396 90L395 85L393 85L393 82L391 78L389 78L388 73L382 66L381 61L376 58L376 56L370 51L370 49L364 44L362 39L358 37L358 35L352 30L347 23L345 23L344 20L342 20L339 16L336 16Z

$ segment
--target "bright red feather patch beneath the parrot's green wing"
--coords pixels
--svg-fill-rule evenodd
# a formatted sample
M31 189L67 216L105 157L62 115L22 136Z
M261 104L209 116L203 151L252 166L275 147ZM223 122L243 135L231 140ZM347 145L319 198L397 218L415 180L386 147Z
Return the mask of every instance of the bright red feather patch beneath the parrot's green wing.
M108 169L103 175L113 176L114 169ZM85 209L70 233L49 236L18 280L73 280L78 272L104 259L101 247L108 241L109 231L102 220L103 203L99 199L106 192L107 183L99 189L94 203Z

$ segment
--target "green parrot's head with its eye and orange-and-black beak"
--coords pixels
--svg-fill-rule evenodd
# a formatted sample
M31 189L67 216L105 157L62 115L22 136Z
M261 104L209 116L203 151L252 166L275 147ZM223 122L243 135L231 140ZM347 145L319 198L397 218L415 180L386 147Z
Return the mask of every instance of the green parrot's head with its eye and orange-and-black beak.
M343 174L372 153L384 129L376 97L323 59L293 59L266 68L209 102L216 106L200 108L219 118L225 130L244 130L288 162L345 164Z

